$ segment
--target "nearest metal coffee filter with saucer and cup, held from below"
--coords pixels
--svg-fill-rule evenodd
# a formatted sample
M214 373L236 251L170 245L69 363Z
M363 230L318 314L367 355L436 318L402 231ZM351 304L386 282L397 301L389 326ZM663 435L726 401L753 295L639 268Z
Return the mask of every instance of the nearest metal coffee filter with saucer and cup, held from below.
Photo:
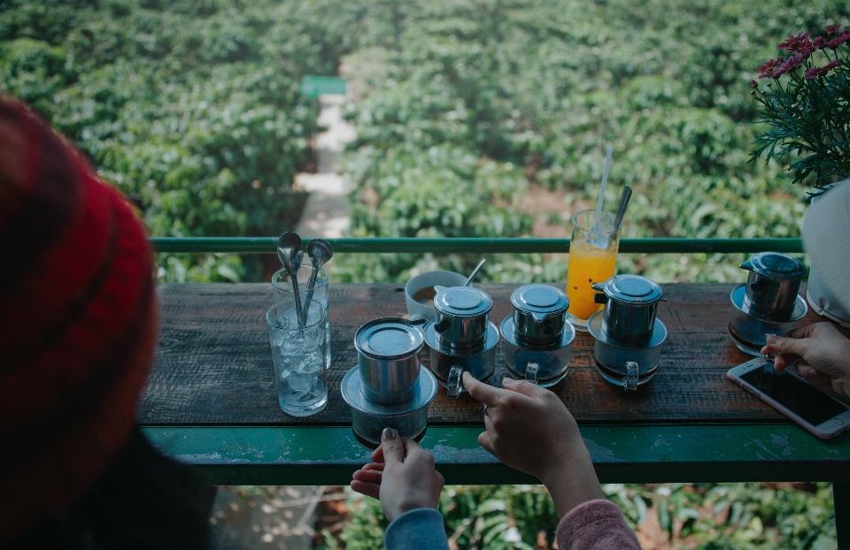
M437 378L420 367L424 345L419 326L398 317L373 319L354 333L358 364L340 390L364 446L380 446L384 428L417 441L424 437L428 405L437 396Z

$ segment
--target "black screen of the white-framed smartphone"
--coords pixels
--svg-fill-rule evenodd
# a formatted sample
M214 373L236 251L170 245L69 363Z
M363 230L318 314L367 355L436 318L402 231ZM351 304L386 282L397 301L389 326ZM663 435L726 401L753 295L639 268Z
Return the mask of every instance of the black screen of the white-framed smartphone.
M847 410L844 405L795 378L790 372L774 370L773 363L750 370L739 378L815 426Z

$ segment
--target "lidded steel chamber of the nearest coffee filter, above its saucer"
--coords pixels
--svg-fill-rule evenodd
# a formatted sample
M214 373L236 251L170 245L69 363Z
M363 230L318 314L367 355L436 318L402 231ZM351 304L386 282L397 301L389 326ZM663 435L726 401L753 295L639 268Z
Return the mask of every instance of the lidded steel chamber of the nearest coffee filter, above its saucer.
M360 393L369 401L391 405L410 401L419 391L419 352L425 335L417 325L398 317L382 317L354 333Z

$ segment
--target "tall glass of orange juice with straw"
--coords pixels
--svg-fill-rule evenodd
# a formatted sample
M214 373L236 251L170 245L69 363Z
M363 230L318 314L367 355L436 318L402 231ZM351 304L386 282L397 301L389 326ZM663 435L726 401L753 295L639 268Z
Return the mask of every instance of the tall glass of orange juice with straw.
M614 228L614 214L602 212L599 227L594 230L596 210L582 210L573 216L573 234L569 241L567 265L567 297L569 322L576 330L586 331L587 320L602 309L596 303L593 283L603 283L614 276L620 227Z

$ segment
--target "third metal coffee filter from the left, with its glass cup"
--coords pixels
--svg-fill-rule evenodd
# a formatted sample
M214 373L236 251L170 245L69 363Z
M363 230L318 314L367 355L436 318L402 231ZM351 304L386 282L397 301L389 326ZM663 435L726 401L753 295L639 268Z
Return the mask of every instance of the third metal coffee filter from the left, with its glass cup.
M499 325L506 341L508 374L538 386L554 386L567 376L576 338L576 329L567 322L567 294L549 285L526 285L511 294L511 304L514 313Z

